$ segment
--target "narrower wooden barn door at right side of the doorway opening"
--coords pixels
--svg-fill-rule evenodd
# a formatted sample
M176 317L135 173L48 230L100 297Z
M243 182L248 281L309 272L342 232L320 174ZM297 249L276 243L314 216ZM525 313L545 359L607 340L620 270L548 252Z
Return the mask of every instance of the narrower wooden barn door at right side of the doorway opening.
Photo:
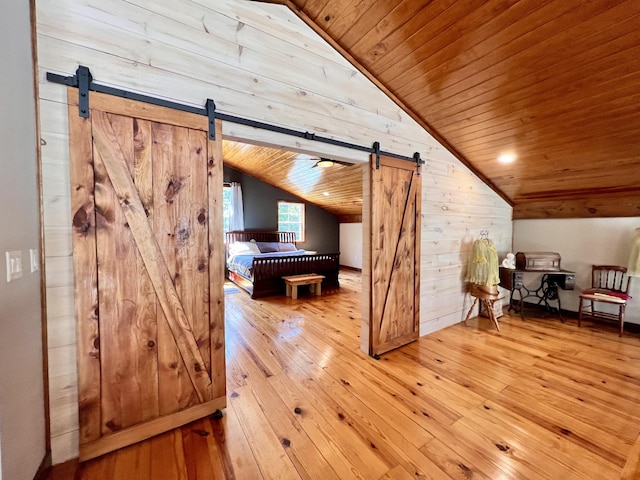
M418 338L421 178L415 164L380 158L370 171L369 354Z

